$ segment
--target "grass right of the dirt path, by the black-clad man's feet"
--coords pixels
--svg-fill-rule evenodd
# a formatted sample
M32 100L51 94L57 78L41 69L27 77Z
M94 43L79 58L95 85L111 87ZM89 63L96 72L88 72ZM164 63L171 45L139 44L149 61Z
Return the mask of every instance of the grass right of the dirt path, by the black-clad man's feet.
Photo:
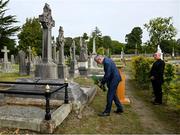
M165 125L169 126L171 133L180 133L180 108L172 106L171 104L154 106L150 103L152 98L152 90L142 89L134 80L131 80L134 87L134 96L143 100L147 107L155 113L156 117Z

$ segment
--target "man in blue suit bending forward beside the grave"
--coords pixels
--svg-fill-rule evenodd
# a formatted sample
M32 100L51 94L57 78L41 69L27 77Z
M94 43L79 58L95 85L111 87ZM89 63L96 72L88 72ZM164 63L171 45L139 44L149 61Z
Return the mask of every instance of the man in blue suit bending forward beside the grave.
M109 116L111 112L112 107L112 101L114 101L117 110L114 111L115 113L122 113L123 107L116 95L116 89L121 81L121 76L119 74L119 71L115 65L115 63L107 57L103 56L96 56L94 60L98 64L102 64L104 66L104 77L101 80L101 85L105 85L107 83L108 92L107 92L107 104L105 110L99 114L99 116Z

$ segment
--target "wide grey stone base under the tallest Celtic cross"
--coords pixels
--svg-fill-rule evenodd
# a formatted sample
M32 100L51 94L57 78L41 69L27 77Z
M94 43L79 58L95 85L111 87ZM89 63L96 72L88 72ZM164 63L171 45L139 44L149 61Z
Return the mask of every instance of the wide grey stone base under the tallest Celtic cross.
M53 62L37 64L35 77L40 79L57 79L57 64Z

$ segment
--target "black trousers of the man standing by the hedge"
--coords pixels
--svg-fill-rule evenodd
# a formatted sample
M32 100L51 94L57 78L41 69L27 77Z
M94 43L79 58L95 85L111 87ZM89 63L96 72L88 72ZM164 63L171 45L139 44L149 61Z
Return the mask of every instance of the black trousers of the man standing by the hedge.
M159 80L152 80L152 87L154 92L154 102L162 103L162 83Z

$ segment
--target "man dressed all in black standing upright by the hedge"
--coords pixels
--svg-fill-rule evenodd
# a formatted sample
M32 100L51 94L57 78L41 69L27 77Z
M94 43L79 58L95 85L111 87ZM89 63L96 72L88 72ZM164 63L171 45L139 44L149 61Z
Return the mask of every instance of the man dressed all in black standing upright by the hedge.
M154 59L156 62L153 63L153 66L150 71L150 78L152 82L153 92L155 99L153 101L154 105L162 104L162 87L163 84L163 74L164 74L164 67L165 62L161 60L161 54L155 53Z

